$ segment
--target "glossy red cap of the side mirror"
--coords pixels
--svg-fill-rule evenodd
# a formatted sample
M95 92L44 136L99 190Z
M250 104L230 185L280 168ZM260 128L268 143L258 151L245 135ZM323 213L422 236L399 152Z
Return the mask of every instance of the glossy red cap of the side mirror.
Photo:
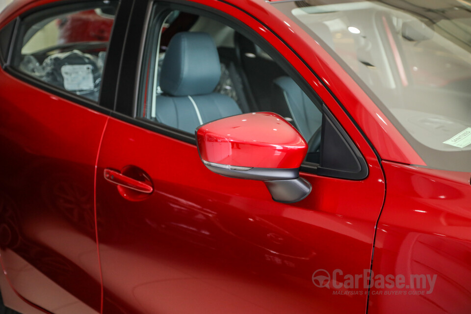
M201 159L223 165L299 168L308 151L303 136L272 112L210 122L196 136Z

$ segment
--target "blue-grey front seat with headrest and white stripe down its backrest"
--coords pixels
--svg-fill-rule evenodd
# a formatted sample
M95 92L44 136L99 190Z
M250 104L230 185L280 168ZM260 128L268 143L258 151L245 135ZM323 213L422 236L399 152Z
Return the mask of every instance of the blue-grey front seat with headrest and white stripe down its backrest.
M176 34L162 64L157 122L193 133L207 122L241 114L232 98L213 92L220 77L217 48L209 34Z

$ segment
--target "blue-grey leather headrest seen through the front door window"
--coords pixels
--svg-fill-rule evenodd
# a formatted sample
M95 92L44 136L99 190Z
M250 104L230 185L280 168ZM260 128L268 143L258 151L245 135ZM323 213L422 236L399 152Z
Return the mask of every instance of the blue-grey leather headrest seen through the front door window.
M219 55L208 33L181 32L173 36L160 76L164 93L172 96L210 94L220 78Z

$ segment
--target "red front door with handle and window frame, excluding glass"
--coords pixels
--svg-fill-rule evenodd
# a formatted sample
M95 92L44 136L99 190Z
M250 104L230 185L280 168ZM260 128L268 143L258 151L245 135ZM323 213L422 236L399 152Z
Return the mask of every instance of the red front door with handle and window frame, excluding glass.
M343 294L325 279L336 269L370 269L385 192L373 149L314 73L260 22L263 16L258 21L222 1L179 2L160 5L227 23L283 55L290 75L307 82L306 93L322 99L324 115L361 152L367 176L328 177L305 165L301 177L311 194L283 204L262 182L210 172L194 135L136 116L137 100L153 88L139 48L149 46L137 34L160 29L151 23L161 13L159 3L136 3L97 166L104 313L365 313L367 289Z

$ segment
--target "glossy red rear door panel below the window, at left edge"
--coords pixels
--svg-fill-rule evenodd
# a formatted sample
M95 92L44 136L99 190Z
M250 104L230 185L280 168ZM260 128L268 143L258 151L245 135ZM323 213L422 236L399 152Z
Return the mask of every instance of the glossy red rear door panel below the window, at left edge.
M0 71L0 254L51 312L100 311L94 169L106 116Z

